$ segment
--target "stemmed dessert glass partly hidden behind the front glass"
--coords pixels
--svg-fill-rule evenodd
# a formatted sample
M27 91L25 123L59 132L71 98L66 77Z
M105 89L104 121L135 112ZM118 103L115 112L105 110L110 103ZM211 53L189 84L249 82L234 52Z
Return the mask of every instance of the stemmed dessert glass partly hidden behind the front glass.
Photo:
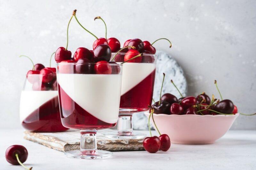
M111 59L117 63L124 62L126 53L112 53ZM143 54L140 63L123 64L120 109L117 131L105 133L108 138L143 139L146 134L133 132L132 114L149 110L152 103L156 74L156 55Z

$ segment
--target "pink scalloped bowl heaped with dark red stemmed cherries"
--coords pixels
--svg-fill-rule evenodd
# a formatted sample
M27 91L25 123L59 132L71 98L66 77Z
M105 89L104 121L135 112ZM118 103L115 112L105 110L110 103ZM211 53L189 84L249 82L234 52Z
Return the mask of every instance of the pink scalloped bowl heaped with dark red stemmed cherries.
M214 83L218 89L217 81ZM221 94L219 100L214 95L210 98L204 92L196 97L184 97L179 91L180 98L170 93L162 96L161 92L160 100L151 106L154 109L154 124L171 138L172 143L212 144L229 130L239 114L245 115L237 112L231 100L223 100ZM150 113L145 112L145 115L149 117ZM255 113L247 116L252 115ZM152 117L150 121L153 124Z

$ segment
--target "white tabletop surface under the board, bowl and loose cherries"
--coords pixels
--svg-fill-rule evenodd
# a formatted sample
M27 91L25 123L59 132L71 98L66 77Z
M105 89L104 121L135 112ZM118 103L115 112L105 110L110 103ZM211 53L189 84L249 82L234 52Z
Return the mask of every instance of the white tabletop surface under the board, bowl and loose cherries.
M168 152L113 152L108 159L72 159L63 152L23 139L23 130L0 130L0 169L23 169L9 164L4 157L7 147L18 144L28 149L26 166L39 169L256 169L256 131L228 131L210 145L172 144ZM148 133L148 131L144 131ZM156 134L155 131L153 131Z

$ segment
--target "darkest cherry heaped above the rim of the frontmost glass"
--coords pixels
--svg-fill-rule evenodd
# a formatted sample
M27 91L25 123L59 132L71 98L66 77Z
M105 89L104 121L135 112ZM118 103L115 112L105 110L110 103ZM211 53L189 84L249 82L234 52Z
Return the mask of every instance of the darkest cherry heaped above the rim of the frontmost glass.
M109 61L111 58L111 49L108 45L102 44L93 50L93 55L95 62L102 60Z

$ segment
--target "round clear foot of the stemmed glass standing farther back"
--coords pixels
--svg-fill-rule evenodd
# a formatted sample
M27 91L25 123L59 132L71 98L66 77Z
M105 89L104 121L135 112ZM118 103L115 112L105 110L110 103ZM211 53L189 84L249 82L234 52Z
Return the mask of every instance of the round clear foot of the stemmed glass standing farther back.
M146 134L139 132L108 132L104 133L104 136L107 138L113 139L144 139L146 138Z

